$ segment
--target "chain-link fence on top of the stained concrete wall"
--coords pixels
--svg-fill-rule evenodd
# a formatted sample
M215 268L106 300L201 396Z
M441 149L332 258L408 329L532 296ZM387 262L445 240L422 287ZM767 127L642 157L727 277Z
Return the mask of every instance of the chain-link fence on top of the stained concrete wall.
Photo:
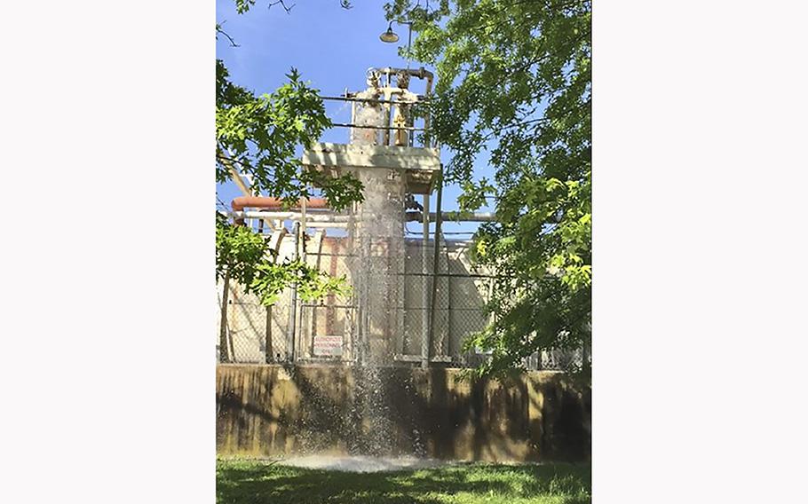
M403 256L388 257L374 269L360 264L368 257L353 254L347 240L320 237L308 244L305 259L329 275L345 276L353 294L309 302L292 287L264 306L256 295L231 286L224 353L221 315L217 320L220 361L474 366L486 358L484 352L463 350L465 340L489 322L484 306L493 287L488 272L471 267L467 242L441 242L436 256L432 240L406 240ZM376 274L368 274L371 270ZM369 282L376 287L363 295ZM219 283L220 313L222 294ZM584 358L582 350L550 350L527 358L525 365L566 369L581 366Z

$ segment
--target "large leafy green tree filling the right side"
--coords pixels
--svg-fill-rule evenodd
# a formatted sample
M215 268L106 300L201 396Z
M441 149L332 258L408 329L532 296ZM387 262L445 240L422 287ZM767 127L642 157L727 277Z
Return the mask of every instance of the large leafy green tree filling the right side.
M431 134L452 160L462 210L494 201L473 260L496 272L494 322L467 342L491 350L479 374L537 350L590 342L590 0L395 0L418 32L411 56L436 68ZM493 180L474 177L487 151ZM586 366L586 364L585 364Z

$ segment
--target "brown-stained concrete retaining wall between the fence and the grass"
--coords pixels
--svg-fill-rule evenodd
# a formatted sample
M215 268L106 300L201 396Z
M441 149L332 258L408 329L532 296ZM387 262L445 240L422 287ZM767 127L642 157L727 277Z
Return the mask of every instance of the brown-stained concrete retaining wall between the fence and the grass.
M468 461L590 457L590 392L563 374L468 382L457 369L382 368L381 390L367 390L382 422L361 413L368 400L361 376L346 366L218 366L218 453L366 453L368 429L382 425L390 430L382 433L389 454Z

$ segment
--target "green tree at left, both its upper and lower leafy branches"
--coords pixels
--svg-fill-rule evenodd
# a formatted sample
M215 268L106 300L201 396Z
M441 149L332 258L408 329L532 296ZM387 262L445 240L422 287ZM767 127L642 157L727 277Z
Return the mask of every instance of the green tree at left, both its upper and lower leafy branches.
M255 0L235 0L239 13L248 12ZM291 7L282 1L287 12ZM345 0L343 8L351 5ZM235 45L221 25L216 33ZM353 175L334 177L306 170L297 159L298 146L308 146L321 136L331 122L318 91L301 80L294 68L288 83L271 92L256 96L231 82L224 61L216 60L216 180L226 182L234 172L250 174L254 193L265 193L294 204L313 195L318 187L332 209L345 209L353 201L362 200L362 185ZM263 237L243 226L227 224L217 214L217 276L225 284L222 306L220 344L223 360L227 360L226 307L228 287L237 281L248 292L257 294L262 303L271 305L277 295L297 283L303 299L314 299L329 293L344 294L345 280L330 278L299 261L277 263L267 257Z

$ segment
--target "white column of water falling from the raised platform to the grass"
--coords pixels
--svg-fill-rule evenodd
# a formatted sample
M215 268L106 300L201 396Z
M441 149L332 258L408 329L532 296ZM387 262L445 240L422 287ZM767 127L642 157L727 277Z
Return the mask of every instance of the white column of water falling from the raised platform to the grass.
M363 91L368 94L368 91ZM371 93L372 94L372 93ZM361 95L361 96L360 96ZM360 93L358 98L372 98ZM379 106L358 106L354 122L384 125ZM380 130L354 128L354 146L377 146ZM423 458L424 445L417 429L408 430L413 441L410 453L396 453L397 431L384 390L384 367L394 358L395 343L403 324L404 201L406 186L402 173L384 167L357 168L354 176L364 185L364 201L356 204L348 225L356 313L352 353L353 400L350 411L338 419L350 424L352 436L345 439L348 456L312 453L284 461L290 465L320 469L376 471L429 466Z

